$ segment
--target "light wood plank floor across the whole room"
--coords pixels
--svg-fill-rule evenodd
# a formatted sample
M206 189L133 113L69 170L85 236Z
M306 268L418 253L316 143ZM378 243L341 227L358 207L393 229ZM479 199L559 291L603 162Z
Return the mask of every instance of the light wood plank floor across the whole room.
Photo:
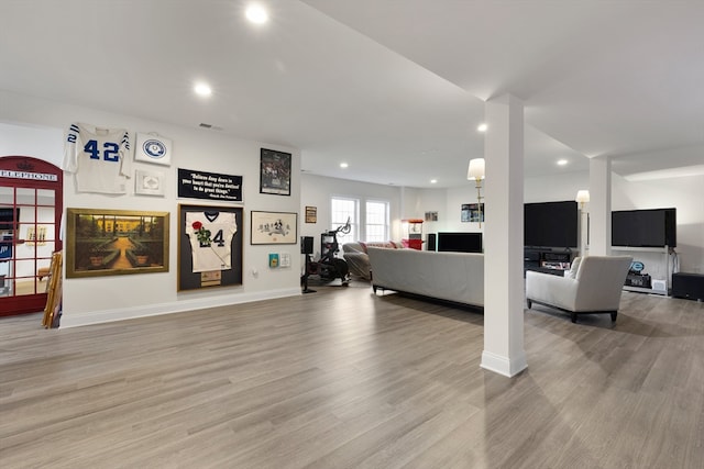
M483 316L369 286L73 330L0 319L0 467L703 468L704 306Z

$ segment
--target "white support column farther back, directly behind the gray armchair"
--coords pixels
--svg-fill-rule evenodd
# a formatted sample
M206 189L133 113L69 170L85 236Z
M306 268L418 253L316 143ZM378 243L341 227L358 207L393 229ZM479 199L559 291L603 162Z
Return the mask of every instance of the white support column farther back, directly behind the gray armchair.
M590 254L612 254L612 159L590 159Z

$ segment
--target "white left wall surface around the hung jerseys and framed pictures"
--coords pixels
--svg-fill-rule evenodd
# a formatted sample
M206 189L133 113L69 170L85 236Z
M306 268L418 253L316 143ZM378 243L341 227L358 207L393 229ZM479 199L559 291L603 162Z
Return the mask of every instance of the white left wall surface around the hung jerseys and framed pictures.
M133 188L125 196L77 193L72 175L64 180L65 208L95 208L120 210L166 211L170 213L169 271L160 273L122 275L86 279L66 279L64 282L64 313L62 326L76 326L128 317L163 314L221 304L234 304L258 299L300 294L299 246L251 246L251 210L298 212L300 205L300 155L295 148L286 148L261 142L245 141L223 135L217 131L188 129L153 122L135 116L119 115L66 103L58 103L15 93L0 91L0 121L32 129L48 127L48 136L41 144L29 145L25 132L16 133L16 142L4 146L11 154L34 156L59 164L63 155L63 137L73 122L86 122L107 127L135 132L156 132L174 143L170 167L133 163L132 169L160 170L168 182L165 197L141 197ZM7 137L7 133L3 134ZM24 142L24 143L23 143ZM258 192L260 148L284 150L293 155L290 197L261 194ZM41 148L41 149L37 149ZM36 152L36 153L35 153ZM51 159L50 159L51 156ZM58 159L56 159L58 156ZM199 169L211 172L243 176L243 284L177 292L177 226L178 203L209 204L209 201L178 199L176 193L177 168ZM299 217L299 225L301 225ZM290 268L268 268L268 253L292 255Z

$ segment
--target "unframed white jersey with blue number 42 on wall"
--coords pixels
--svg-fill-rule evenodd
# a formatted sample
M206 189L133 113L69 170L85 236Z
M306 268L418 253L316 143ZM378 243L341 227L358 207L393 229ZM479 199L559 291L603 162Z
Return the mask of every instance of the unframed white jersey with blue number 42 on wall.
M72 124L63 169L76 174L78 192L125 193L129 156L130 135L124 129Z

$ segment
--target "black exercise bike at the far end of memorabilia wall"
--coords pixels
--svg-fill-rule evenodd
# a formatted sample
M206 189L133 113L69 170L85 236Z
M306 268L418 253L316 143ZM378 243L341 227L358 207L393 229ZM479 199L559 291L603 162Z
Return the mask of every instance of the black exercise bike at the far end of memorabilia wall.
M350 284L350 268L344 259L336 257L340 252L338 233L348 234L352 230L350 219L344 225L330 230L320 235L320 259L312 260L310 254L306 254L306 273L301 278L304 293L311 293L315 290L308 289L308 277L318 276L323 281L332 281L337 278L342 280L342 286Z

